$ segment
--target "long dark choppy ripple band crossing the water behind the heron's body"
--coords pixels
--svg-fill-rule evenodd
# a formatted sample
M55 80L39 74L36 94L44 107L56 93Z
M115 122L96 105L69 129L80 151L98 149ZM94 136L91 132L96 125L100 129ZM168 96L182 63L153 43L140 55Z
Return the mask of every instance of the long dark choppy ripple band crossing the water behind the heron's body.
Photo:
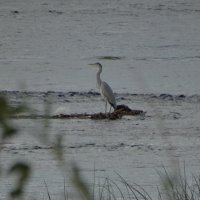
M45 102L50 99L53 102L73 102L79 98L93 98L100 96L100 93L93 90L90 91L69 91L69 92L36 92L36 91L0 91L1 96L6 96L9 100L22 101L24 99L35 99ZM186 95L186 94L136 94L136 93L115 93L117 99L125 100L126 98L142 98L142 99L158 99L163 101L187 101L191 103L200 102L200 95ZM58 108L60 110L61 107ZM63 109L63 108L62 108Z

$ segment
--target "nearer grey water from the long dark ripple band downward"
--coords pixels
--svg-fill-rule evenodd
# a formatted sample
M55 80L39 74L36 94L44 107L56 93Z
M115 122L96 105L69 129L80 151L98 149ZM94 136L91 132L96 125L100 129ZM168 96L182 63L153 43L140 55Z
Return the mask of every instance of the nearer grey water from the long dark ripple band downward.
M51 115L104 110L104 102L94 91L3 91L1 94L7 96L12 105L28 101L38 115L44 114L47 103ZM163 165L170 170L174 162L180 161L180 164L186 163L188 173L199 171L199 95L118 93L116 99L118 104L144 110L146 115L124 116L116 121L50 120L50 138L63 135L67 162L76 161L89 183L93 183L95 166L97 185L107 176L117 181L117 172L127 181L140 184L156 197L156 185L159 185L156 170L162 170ZM62 196L64 178L51 156L52 145L50 143L46 146L37 140L37 134L43 131L43 119L28 117L12 121L19 128L20 137L2 145L2 165L6 167L13 159L19 158L30 162L34 160L35 173L27 197L47 197L44 179L52 197ZM71 193L70 175L64 177ZM0 187L4 196L11 188L11 179L6 179Z

